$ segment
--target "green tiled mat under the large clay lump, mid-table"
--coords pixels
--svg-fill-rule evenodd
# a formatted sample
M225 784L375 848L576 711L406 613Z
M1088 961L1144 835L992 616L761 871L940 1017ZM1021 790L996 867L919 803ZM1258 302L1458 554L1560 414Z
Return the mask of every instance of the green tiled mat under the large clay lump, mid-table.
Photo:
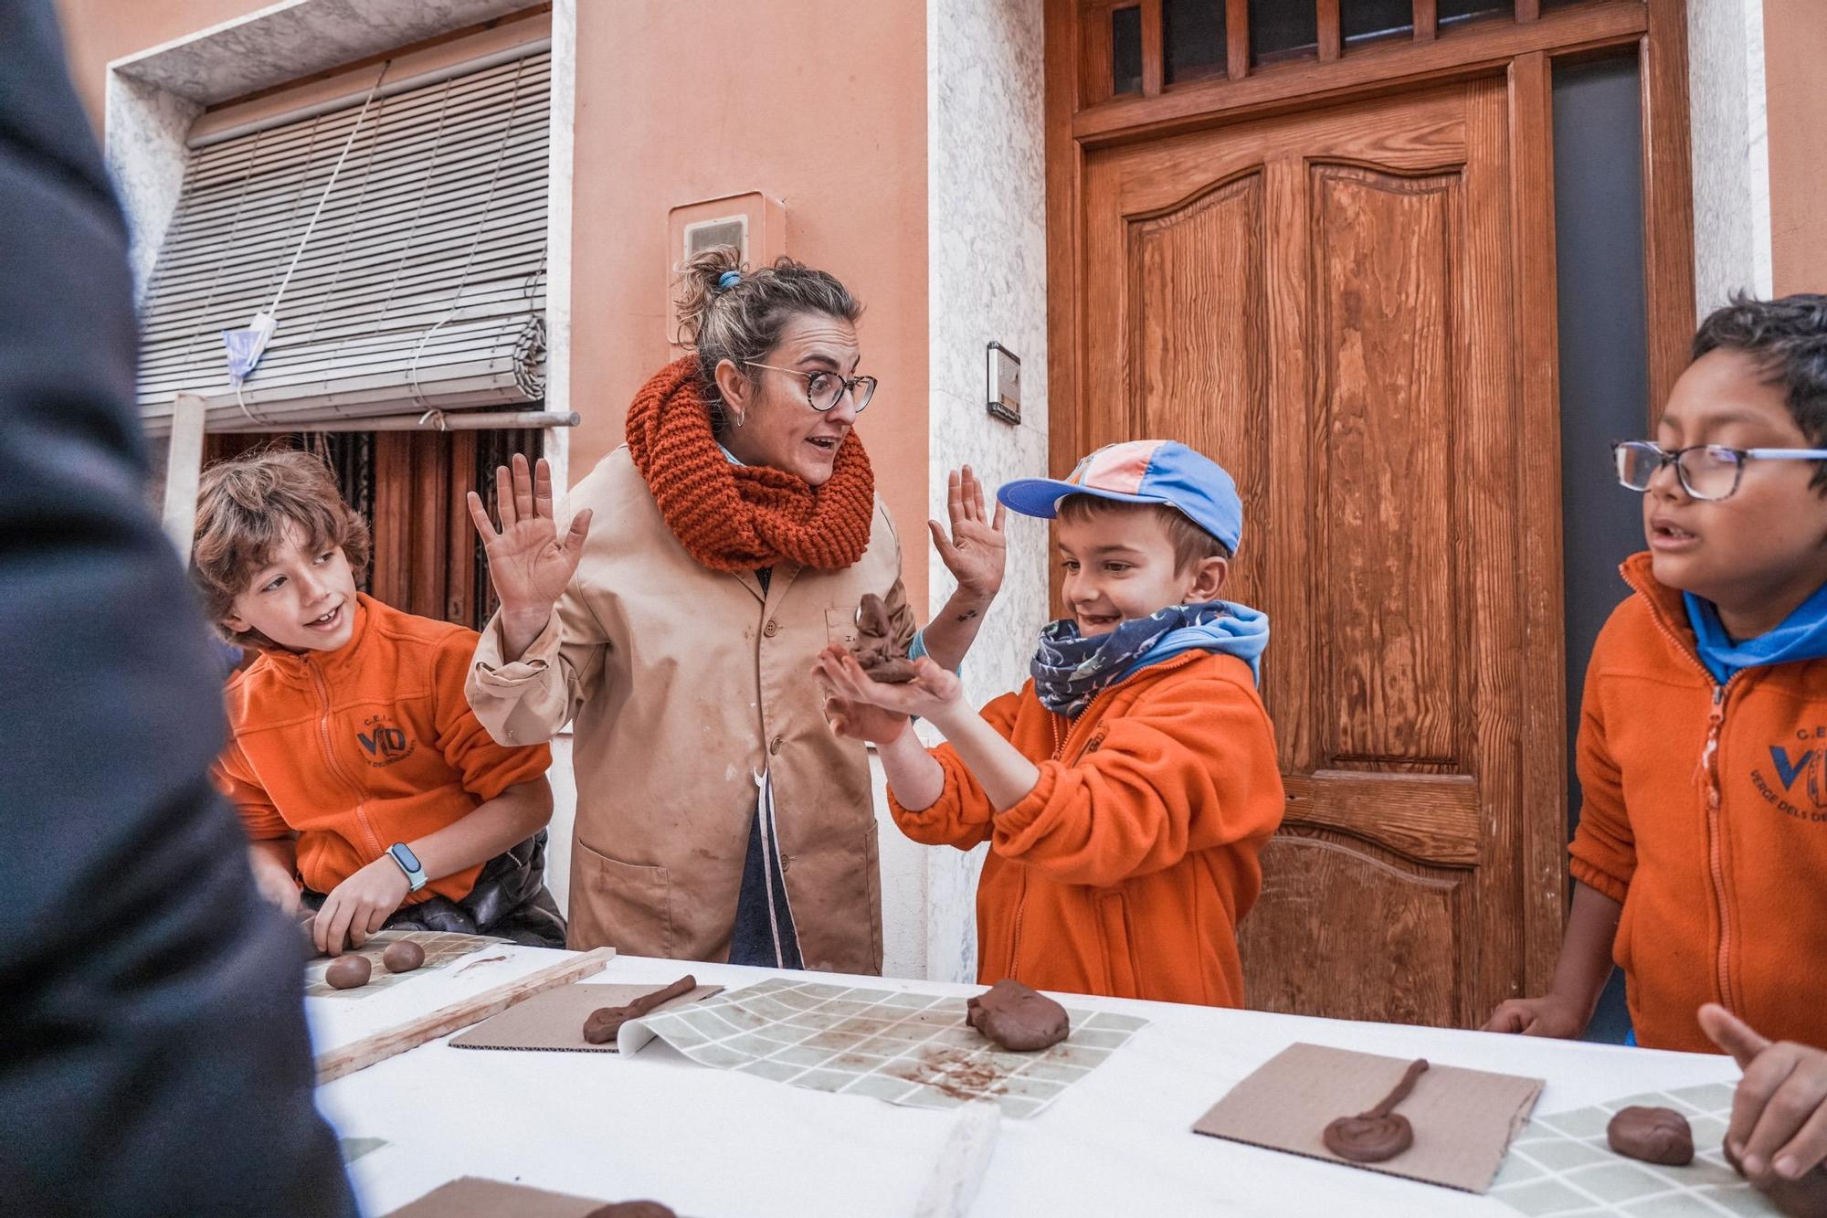
M1005 1053L965 1022L965 999L769 978L621 1028L621 1052L660 1037L703 1066L892 1105L952 1108L994 1099L1034 1116L1147 1026L1067 1008L1072 1035Z

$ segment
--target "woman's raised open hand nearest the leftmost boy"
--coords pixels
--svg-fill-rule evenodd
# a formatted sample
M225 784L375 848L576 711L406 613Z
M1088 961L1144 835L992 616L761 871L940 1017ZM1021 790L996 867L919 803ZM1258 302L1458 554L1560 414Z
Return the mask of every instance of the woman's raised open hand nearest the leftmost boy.
M513 454L513 470L504 465L495 468L495 510L499 530L482 507L482 496L470 492L470 518L482 534L488 578L501 598L501 613L504 618L537 618L544 625L565 585L577 574L583 540L590 532L590 508L577 512L561 538L552 518L552 466L541 457L528 470L526 457Z

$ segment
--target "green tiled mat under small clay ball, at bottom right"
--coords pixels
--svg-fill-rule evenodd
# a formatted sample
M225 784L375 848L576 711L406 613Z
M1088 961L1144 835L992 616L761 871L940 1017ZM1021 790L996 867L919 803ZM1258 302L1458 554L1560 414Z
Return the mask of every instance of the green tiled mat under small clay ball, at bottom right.
M1694 1127L1694 1161L1661 1167L1613 1154L1604 1128L1611 1114L1632 1105L1674 1108L1686 1116ZM1511 1143L1491 1196L1529 1218L1774 1214L1763 1194L1725 1163L1719 1143L1730 1119L1730 1083L1650 1092L1538 1116Z

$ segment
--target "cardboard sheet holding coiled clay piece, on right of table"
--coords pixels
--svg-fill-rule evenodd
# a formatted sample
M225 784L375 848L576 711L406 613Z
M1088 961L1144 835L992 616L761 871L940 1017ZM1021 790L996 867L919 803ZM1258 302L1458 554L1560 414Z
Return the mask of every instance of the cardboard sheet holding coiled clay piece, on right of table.
M1414 1145L1383 1163L1352 1163L1321 1139L1334 1117L1374 1108L1409 1059L1290 1044L1239 1083L1193 1132L1363 1167L1423 1183L1484 1192L1516 1130L1542 1094L1542 1079L1429 1064L1396 1112L1414 1127Z

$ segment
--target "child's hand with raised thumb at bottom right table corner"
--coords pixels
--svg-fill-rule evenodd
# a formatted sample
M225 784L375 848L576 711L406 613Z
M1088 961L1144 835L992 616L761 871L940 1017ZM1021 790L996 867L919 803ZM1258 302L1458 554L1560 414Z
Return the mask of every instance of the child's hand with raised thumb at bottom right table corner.
M1725 1134L1745 1176L1796 1180L1827 1159L1827 1050L1761 1037L1716 1002L1699 1019L1745 1072Z

